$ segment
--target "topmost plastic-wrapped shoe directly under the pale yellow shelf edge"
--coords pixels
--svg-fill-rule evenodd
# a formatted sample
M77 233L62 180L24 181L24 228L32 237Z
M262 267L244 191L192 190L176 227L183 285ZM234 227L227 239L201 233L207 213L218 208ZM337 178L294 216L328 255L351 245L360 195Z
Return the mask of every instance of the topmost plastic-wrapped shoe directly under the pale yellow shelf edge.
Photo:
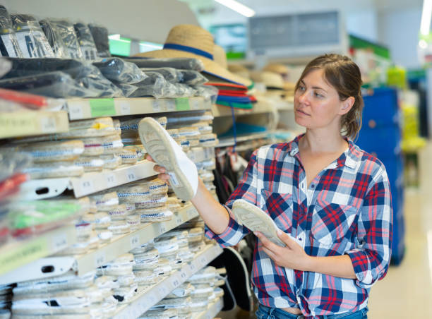
M71 161L83 154L84 144L80 140L41 142L19 145L9 150L25 152L32 157L35 163Z

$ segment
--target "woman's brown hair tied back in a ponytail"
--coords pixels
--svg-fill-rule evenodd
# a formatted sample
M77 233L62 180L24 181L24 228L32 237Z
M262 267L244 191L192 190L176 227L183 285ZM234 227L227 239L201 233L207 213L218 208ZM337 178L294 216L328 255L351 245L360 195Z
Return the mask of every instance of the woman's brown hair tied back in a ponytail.
M341 119L344 136L353 140L358 136L361 128L361 112L363 111L363 97L361 97L361 74L357 66L348 56L340 54L323 54L308 63L296 83L297 90L300 81L311 71L323 69L325 80L337 91L341 101L354 97L352 109Z

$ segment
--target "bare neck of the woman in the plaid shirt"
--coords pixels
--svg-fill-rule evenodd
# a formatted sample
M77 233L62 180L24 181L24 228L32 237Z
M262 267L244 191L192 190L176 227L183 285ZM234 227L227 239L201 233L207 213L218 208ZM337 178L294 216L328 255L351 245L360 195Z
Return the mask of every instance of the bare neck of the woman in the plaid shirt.
M318 155L344 152L348 144L338 132L306 129L306 134L299 140L299 147Z

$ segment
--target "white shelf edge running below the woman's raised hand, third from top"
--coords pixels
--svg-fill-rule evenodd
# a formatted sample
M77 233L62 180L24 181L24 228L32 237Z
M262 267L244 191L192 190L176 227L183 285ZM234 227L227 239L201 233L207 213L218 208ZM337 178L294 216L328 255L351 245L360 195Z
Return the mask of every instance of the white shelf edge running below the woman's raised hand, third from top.
M189 219L198 216L198 212L192 204L188 204L181 208L179 212L174 214L174 217L167 222L154 222L152 224L145 224L140 229L132 233L116 237L114 241L105 244L104 246L90 251L85 255L76 256L75 268L78 275L84 275L86 272L94 270L111 260L119 257L133 248L136 248L143 243L147 243L151 239L164 234L165 232L187 222Z

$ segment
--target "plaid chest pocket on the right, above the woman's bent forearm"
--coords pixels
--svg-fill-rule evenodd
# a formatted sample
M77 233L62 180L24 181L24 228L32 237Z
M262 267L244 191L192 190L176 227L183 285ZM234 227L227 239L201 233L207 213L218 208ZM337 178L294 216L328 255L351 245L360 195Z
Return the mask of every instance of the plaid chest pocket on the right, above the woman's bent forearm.
M313 208L311 234L323 246L330 247L352 231L357 208L318 200Z

